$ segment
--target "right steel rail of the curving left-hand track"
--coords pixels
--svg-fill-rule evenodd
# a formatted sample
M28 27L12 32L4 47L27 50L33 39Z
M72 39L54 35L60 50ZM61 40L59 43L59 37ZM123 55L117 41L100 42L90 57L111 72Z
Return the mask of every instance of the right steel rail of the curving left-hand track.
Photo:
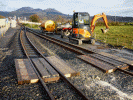
M27 34L26 34L27 35ZM27 36L28 40L30 41L31 45L36 49L36 51L38 51L38 53L59 73L59 75L61 76L61 78L63 78L63 80L65 80L75 91L77 94L79 94L83 100L90 100L90 98L88 98L81 90L79 90L77 88L77 86L73 85L67 78L66 76L64 76L64 74L58 70L53 64L51 64L48 59L41 53L41 51L35 47L35 45L32 43L32 41L30 40L30 38Z

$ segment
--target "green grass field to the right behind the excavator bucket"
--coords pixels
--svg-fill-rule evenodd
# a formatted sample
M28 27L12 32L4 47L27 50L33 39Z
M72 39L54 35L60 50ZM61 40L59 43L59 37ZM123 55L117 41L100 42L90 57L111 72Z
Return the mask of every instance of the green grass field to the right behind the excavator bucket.
M101 28L105 26L96 26L94 30L94 37L96 40L101 40L104 43L109 43L114 46L125 46L133 49L133 26L109 26L107 33L102 33Z

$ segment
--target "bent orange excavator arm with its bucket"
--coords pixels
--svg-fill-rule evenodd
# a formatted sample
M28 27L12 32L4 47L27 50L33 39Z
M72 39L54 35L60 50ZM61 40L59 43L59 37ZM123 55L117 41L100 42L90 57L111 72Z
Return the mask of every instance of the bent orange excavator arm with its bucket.
M105 33L105 32L107 32L108 29L109 29L108 21L107 21L107 17L106 17L106 15L105 15L105 13L102 13L102 15L101 15L101 14L97 14L97 15L94 15L94 17L93 17L93 19L92 19L92 21L91 21L91 27L90 27L90 28L91 28L92 33L93 33L94 29L95 29L95 25L96 25L95 22L96 22L97 19L99 19L99 18L103 18L103 21L104 21L104 23L105 23L105 25L106 25L106 30L101 29L102 32Z

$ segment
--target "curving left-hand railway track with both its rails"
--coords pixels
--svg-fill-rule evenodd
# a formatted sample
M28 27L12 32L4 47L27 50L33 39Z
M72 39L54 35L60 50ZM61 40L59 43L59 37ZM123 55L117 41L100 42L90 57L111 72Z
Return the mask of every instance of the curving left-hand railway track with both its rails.
M53 95L50 93L50 91L49 91L46 83L42 79L42 77L40 75L40 72L37 70L37 66L35 65L35 63L32 60L33 58L38 58L38 57L39 58L40 57L43 58L49 65L51 65L53 67L54 70L56 70L59 73L60 77L65 82L67 82L67 84L69 84L69 86L72 87L79 96L81 96L82 99L89 100L89 98L87 96L85 96L85 94L81 90L79 90L76 86L74 86L66 78L66 76L64 76L64 74L60 70L56 69L56 67L48 61L48 59L40 52L40 50L38 48L35 47L35 45L32 43L32 41L30 40L30 38L27 36L26 28L23 27L23 29L24 29L24 32L21 31L21 34L20 34L21 45L22 45L23 50L24 50L24 52L25 52L25 54L26 54L26 56L27 56L27 58L28 58L28 60L29 60L29 62L31 64L32 68L34 69L34 71L35 71L35 73L36 73L39 81L41 82L42 86L46 90L49 98L51 100L54 100L55 99L53 97Z

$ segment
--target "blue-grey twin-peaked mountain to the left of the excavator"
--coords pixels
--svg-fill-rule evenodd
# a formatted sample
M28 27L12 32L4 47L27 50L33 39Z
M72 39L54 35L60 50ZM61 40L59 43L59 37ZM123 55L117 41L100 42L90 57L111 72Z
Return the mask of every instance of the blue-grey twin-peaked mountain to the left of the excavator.
M38 14L39 16L43 17L47 17L48 19L51 18L50 16L53 15L61 15L66 17L66 14L63 14L57 10L55 10L54 8L48 8L45 10L42 9L33 9L31 7L22 7L20 9L17 9L16 11L12 11L12 12L0 12L0 15L5 16L5 17L13 17L14 15L17 17L29 17L30 15L33 14Z

